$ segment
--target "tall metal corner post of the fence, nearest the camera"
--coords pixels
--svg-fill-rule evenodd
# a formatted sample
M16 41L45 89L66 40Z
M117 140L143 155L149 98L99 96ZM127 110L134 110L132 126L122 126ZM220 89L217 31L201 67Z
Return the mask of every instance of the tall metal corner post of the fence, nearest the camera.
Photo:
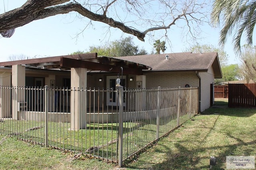
M124 112L124 90L123 86L117 86L118 93L118 166L122 167L123 164L123 112Z

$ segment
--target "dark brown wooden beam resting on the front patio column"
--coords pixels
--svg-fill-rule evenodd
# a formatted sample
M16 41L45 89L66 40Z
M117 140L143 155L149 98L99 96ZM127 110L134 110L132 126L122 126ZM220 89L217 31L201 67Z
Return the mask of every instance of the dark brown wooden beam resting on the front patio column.
M90 61L82 61L76 59L69 59L65 57L61 57L60 66L66 68L87 68L89 70L102 70L107 72L116 72L120 71L121 66L102 64L102 63L94 63ZM142 75L141 68L129 68L127 66L123 67L123 74L135 74Z

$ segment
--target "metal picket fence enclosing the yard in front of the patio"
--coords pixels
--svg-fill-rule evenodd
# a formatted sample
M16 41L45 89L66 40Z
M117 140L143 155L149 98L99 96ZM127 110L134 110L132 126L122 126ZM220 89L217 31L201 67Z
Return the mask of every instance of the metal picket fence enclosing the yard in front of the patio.
M198 113L198 92L198 88L2 86L0 133L122 166ZM109 94L117 101L106 107ZM75 129L77 122L85 128Z

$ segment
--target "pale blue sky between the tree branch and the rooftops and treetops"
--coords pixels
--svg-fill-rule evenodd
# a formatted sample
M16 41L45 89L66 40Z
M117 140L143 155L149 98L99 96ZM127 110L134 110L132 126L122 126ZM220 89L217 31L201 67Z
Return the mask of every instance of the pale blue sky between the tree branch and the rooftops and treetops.
M20 7L24 2L26 0L15 2L0 0L0 14L4 13L4 10ZM26 55L28 57L68 55L78 50L88 51L90 46L103 45L106 41L132 36L122 33L116 28L110 28L108 32L108 25L96 21L92 22L93 26L83 31L86 24L77 16L77 13L72 12L32 21L16 28L12 37L0 37L0 62L9 61L11 55ZM204 25L201 29L203 32L200 34L201 39L198 42L218 47L220 29L212 28L209 25ZM182 30L178 28L168 30L168 37L171 44L166 43L165 53L183 52L194 43L187 42L182 35ZM146 49L148 53L153 49L154 42L148 36L145 37L145 42L138 40L137 37L134 37L133 41L135 45ZM239 63L239 59L234 55L231 38L228 39L224 51L228 54L228 64Z

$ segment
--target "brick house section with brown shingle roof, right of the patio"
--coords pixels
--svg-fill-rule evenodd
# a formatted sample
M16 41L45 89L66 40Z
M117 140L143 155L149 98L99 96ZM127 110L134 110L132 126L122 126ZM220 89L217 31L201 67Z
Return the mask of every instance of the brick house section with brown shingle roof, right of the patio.
M200 87L200 111L210 107L210 84L222 78L218 53L171 53L118 57L125 61L144 64L146 88Z

